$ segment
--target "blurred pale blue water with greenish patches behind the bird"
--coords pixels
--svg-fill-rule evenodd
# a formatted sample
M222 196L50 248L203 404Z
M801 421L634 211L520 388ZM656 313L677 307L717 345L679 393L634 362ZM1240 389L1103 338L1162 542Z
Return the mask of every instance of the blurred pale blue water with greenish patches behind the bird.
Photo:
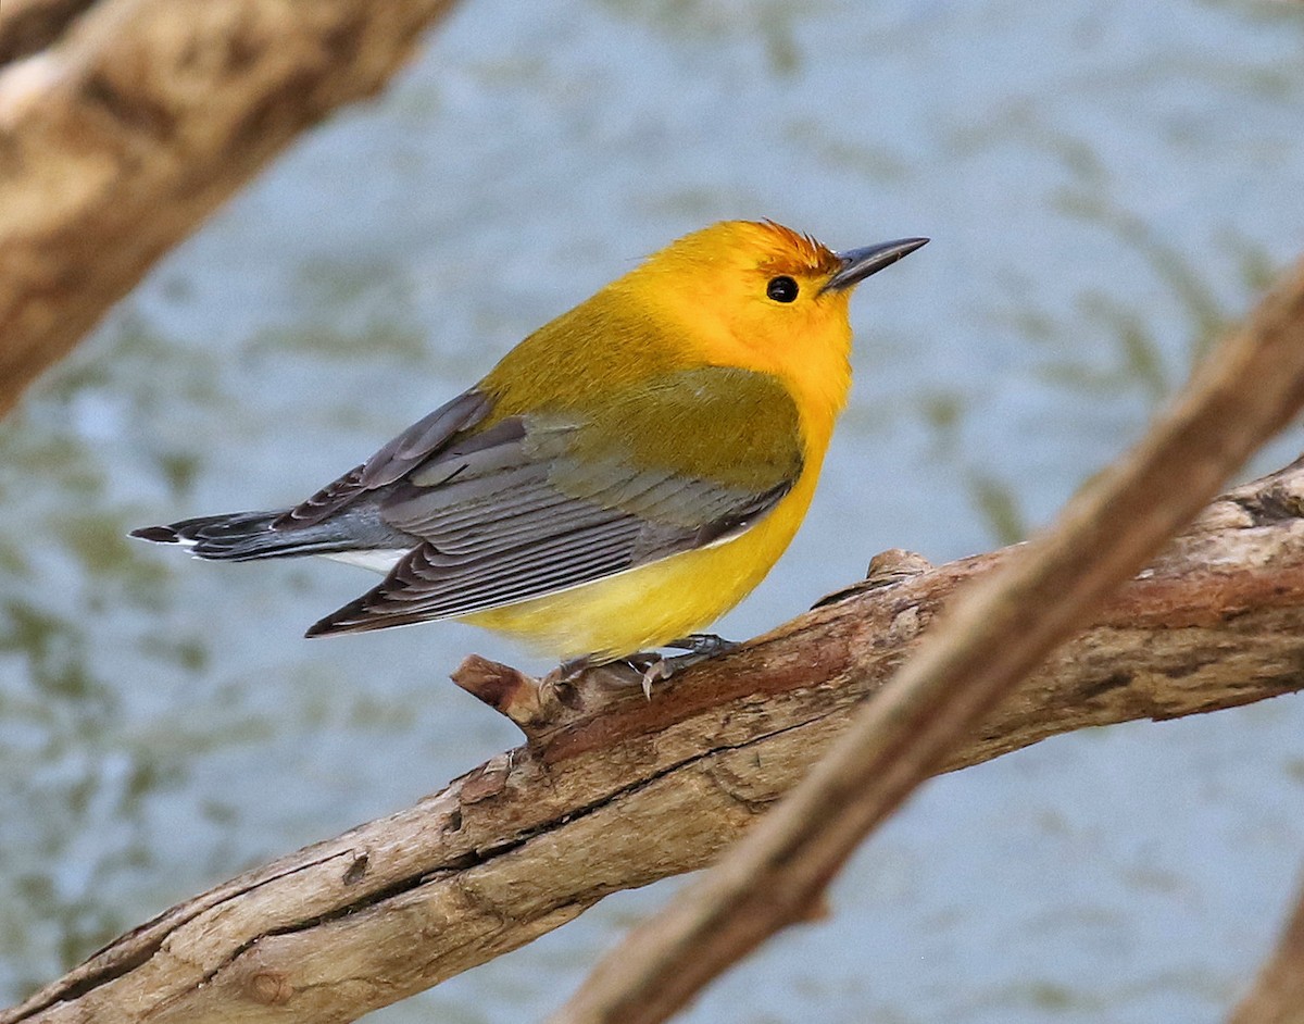
M464 4L0 425L0 1003L515 742L445 680L503 642L309 643L369 577L130 526L293 501L642 254L772 217L934 244L857 296L822 492L724 631L1022 536L1300 250L1301 51L1284 3ZM1301 737L1286 698L939 780L687 1019L1218 1020L1296 881ZM537 1017L673 884L374 1019Z

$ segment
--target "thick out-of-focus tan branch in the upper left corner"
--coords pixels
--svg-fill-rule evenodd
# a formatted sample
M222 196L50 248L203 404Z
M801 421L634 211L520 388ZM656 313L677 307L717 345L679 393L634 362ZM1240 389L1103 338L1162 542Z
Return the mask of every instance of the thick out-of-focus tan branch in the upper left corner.
M377 93L451 7L4 0L0 415L300 132Z

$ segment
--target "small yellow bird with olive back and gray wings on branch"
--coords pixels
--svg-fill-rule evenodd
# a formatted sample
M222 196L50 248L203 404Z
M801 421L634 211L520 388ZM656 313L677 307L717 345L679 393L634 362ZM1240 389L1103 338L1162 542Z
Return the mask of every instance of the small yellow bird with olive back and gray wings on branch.
M835 252L773 220L711 224L299 505L132 536L385 574L308 637L460 620L570 674L626 661L647 690L735 646L698 630L760 583L810 507L852 382L850 294L927 241Z

